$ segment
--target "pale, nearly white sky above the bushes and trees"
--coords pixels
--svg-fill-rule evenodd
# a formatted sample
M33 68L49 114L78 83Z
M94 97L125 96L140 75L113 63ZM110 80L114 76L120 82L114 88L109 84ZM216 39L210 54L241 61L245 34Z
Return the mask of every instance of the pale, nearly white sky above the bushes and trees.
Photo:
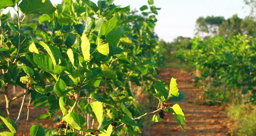
M59 4L62 0L51 1ZM97 0L92 1L97 3ZM115 0L114 4L122 7L130 5L131 9L139 9L147 5L147 0ZM161 7L157 15L155 32L165 41L172 41L178 36L193 37L195 21L200 16L229 18L237 14L244 18L250 12L243 0L154 0L154 4Z

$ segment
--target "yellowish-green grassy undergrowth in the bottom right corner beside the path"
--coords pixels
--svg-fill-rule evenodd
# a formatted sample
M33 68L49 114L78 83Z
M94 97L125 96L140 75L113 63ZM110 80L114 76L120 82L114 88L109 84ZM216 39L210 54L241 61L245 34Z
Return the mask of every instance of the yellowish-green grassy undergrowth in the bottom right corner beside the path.
M237 127L233 128L238 136L256 136L256 106L247 104L233 104L226 108L227 116L236 121Z

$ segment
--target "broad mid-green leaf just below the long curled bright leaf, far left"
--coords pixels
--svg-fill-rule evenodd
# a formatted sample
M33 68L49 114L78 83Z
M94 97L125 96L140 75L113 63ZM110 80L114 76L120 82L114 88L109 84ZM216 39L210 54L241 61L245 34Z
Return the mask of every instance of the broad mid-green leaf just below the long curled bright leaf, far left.
M41 70L52 72L54 66L49 56L33 53L33 61Z

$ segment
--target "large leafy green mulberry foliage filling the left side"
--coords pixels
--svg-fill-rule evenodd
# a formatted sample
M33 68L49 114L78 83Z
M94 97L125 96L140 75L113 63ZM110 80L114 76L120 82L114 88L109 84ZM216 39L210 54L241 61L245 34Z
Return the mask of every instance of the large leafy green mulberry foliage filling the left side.
M1 94L7 99L7 116L13 101L7 87L26 88L22 83L27 82L32 86L29 95L34 107L48 106L47 113L36 120L52 118L59 111L63 114L59 117L60 129L44 130L41 125L32 125L32 136L110 136L114 131L137 135L143 125L135 120L142 113L134 105L133 85L143 86L149 93L155 88L154 96L160 103L184 99L176 79L171 80L169 94L163 83L153 87L156 68L165 55L153 32L159 10L153 0L140 8L142 15L130 11L129 6L116 6L113 0L99 0L97 5L90 0L64 0L55 7L49 0L18 2L0 2L1 9L17 4L18 15L19 11L23 13L23 18L18 16L15 22L9 20L10 13L1 15L1 88L5 88ZM39 25L25 23L25 18L33 14L39 15ZM178 104L158 108L172 113L183 129L185 117ZM16 124L9 118L1 119L11 132L0 134L15 134ZM153 117L153 121L160 119L159 115ZM111 124L122 123L126 127L113 130Z

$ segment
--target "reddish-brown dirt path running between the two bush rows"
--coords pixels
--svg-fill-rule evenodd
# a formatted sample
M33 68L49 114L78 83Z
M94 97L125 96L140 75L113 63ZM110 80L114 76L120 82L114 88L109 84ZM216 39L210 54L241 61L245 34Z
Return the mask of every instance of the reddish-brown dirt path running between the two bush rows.
M193 86L193 77L182 68L161 68L159 78L166 83L171 77L176 78L178 88L185 92L185 99L179 103L186 113L186 125L183 132L171 114L143 132L143 136L224 136L229 135L232 121L224 116L224 107L198 105L196 102L203 93L198 87Z

